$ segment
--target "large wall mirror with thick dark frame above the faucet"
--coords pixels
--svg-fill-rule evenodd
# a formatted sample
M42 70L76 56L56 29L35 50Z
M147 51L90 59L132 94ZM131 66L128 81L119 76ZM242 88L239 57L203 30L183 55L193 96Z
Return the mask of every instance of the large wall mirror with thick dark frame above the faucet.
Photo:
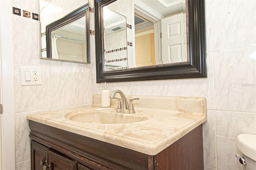
M97 83L206 77L204 0L95 0L94 6ZM126 39L118 32L109 39L105 10L126 18ZM117 45L111 53L110 40Z

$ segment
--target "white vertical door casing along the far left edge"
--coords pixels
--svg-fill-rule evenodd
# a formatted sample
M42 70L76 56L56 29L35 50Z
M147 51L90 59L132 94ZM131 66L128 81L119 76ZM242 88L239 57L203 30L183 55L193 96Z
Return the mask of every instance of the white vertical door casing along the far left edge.
M15 170L14 62L12 0L0 0L1 43L1 169ZM23 28L22 28L23 29Z

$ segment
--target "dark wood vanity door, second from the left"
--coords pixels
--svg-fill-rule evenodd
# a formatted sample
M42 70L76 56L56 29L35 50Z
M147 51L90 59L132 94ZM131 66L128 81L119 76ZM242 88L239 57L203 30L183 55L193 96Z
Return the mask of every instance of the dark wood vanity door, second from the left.
M77 162L53 150L47 151L48 170L77 170Z

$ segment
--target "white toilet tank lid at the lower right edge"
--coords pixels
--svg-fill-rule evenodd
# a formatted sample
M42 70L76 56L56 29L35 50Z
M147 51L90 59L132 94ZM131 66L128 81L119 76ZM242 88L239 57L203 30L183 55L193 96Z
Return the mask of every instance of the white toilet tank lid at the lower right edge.
M237 148L246 156L256 161L256 135L239 134L236 138Z

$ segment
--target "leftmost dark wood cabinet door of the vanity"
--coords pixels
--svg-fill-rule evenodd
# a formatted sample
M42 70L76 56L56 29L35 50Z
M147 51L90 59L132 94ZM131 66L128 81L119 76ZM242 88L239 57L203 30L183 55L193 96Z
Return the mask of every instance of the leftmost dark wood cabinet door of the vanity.
M45 146L31 140L31 169L42 170L42 163L46 161L47 149Z

